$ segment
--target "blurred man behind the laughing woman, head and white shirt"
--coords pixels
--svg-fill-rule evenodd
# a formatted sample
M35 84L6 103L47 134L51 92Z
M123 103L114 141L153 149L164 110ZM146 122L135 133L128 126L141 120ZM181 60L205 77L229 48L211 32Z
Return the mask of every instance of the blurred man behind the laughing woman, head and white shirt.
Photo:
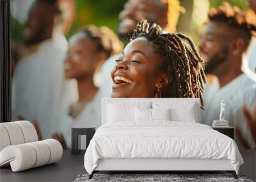
M125 42L129 41L136 25L143 19L147 19L150 24L159 24L168 33L175 32L181 11L184 9L178 0L128 0L118 16L120 22L117 34ZM110 57L102 66L100 98L111 96L113 81L110 74L119 56Z

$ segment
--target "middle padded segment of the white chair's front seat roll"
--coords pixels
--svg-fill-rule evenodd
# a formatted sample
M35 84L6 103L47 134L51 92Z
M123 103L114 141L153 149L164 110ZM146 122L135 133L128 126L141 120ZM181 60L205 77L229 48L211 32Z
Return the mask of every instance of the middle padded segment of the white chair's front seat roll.
M36 150L36 162L33 167L38 167L48 163L51 151L45 142L31 142L28 143L28 145L32 146Z

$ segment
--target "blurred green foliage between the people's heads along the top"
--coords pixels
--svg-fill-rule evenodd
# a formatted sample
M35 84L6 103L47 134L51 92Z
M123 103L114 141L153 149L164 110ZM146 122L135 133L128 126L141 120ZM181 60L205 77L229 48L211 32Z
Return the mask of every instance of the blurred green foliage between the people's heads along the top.
M181 4L183 4L184 1L193 0L181 0ZM118 13L120 13L120 11L123 9L125 2L126 0L76 0L76 19L74 20L67 38L76 32L79 27L85 26L86 24L108 26L113 29L113 31L116 31L118 27ZM242 9L248 8L246 0L228 0L227 2L239 6L239 8ZM223 3L223 0L209 0L211 7L217 7L221 3ZM193 27L193 22L190 26ZM199 34L195 31L196 28L197 27L191 29L191 33L189 34L195 39L195 42L198 42ZM22 30L23 25L12 17L11 39L22 43Z

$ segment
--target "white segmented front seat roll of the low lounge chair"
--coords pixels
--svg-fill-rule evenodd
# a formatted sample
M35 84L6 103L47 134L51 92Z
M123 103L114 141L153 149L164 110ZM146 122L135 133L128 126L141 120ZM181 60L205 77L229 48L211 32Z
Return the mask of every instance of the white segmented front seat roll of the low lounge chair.
M56 162L62 153L60 142L54 139L6 146L0 152L0 167L10 164L13 172L23 171Z

